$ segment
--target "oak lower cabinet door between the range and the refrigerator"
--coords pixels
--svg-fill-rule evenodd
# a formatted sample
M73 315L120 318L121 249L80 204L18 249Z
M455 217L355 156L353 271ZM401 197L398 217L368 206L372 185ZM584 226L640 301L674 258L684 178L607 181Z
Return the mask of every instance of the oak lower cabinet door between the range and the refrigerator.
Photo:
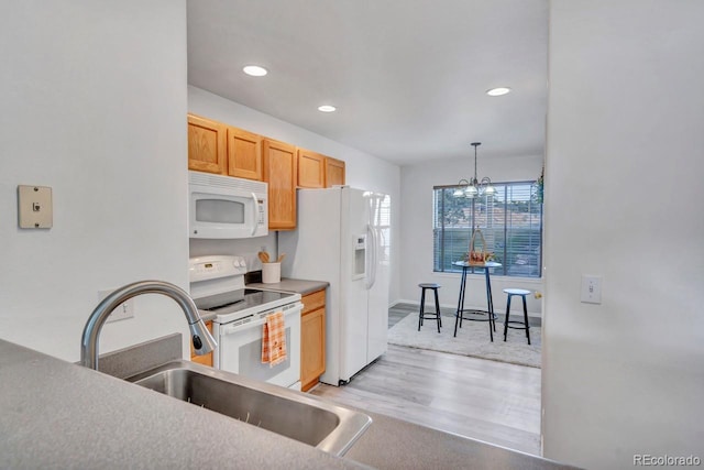
M304 392L318 383L326 371L326 309L300 317L300 383Z

